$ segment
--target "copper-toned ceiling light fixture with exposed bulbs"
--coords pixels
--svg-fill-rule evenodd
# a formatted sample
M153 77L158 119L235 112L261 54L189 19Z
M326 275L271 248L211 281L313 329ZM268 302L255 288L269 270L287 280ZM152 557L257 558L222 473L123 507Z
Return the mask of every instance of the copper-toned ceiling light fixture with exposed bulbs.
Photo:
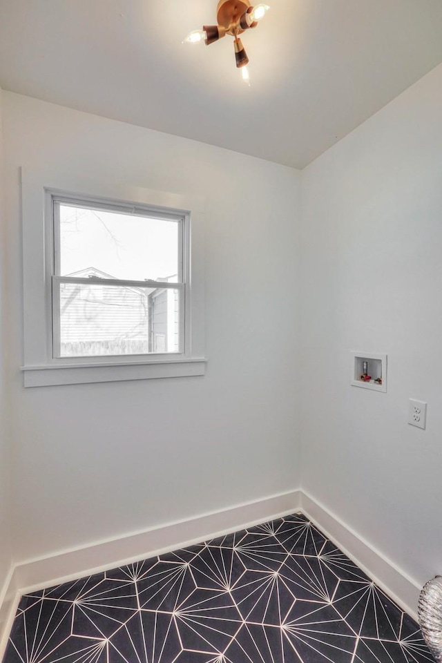
M241 69L242 80L250 85L250 75L247 68L249 58L242 46L239 35L249 28L256 28L260 21L269 10L264 3L255 7L251 6L250 0L220 0L217 7L216 26L203 26L202 30L193 30L184 39L188 44L200 44L204 41L206 46L213 44L218 39L226 35L233 37L233 47L235 49L236 66Z

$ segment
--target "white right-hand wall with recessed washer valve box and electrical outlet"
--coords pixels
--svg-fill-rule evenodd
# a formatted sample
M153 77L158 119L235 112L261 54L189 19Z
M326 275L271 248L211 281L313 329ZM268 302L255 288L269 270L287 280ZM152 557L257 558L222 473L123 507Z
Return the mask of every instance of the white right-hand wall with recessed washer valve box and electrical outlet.
M423 584L442 572L442 65L301 186L302 487ZM349 385L351 350L388 354L387 394Z

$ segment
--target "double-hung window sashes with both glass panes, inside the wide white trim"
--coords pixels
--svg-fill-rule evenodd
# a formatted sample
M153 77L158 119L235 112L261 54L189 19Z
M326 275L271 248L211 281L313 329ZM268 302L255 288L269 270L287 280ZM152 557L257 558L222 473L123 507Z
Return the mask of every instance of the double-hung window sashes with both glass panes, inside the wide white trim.
M52 198L56 358L184 352L186 216Z

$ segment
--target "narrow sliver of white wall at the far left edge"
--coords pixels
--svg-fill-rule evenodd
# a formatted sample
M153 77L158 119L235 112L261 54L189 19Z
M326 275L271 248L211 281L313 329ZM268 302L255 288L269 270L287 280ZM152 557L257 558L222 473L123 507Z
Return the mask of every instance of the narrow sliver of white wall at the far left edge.
M5 410L6 390L4 374L4 323L6 318L5 296L5 256L6 224L3 213L3 124L2 92L0 89L0 606L6 592L6 584L12 563L10 536L10 450L6 431ZM3 613L0 611L0 632Z

